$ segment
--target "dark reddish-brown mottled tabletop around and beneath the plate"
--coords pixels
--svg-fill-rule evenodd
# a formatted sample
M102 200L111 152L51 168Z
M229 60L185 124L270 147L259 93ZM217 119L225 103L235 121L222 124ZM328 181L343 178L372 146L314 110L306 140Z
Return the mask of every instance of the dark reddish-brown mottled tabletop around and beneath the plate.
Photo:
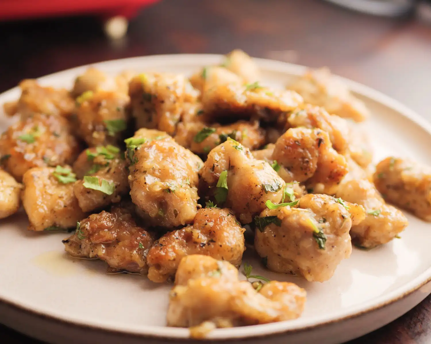
M0 92L23 78L81 64L168 53L226 53L312 67L372 86L431 120L431 26L378 18L319 0L165 0L142 11L128 36L106 39L96 18L0 24ZM431 343L428 297L349 344ZM0 326L2 343L39 343Z

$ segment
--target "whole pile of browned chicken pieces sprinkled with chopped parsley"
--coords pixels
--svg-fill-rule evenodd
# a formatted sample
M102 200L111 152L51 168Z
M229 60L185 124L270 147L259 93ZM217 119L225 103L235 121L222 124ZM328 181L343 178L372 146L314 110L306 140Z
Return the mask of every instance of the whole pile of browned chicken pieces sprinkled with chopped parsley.
M89 68L71 91L22 81L4 105L18 118L0 138L0 218L22 202L29 230L75 229L70 255L175 280L168 325L195 336L297 318L303 289L238 279L243 226L269 270L324 282L351 240L372 248L407 226L387 202L431 221L431 172L390 157L370 173L355 123L369 113L326 69L285 90L259 78L235 50L190 78Z

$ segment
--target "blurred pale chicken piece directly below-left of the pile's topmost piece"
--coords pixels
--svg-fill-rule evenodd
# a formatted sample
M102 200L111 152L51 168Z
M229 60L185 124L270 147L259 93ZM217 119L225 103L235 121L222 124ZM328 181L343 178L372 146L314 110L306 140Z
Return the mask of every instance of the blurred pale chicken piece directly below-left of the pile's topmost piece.
M203 67L200 71L193 74L190 78L192 86L199 90L202 94L206 90L217 85L238 84L244 83L237 74L228 71L226 68L217 66Z

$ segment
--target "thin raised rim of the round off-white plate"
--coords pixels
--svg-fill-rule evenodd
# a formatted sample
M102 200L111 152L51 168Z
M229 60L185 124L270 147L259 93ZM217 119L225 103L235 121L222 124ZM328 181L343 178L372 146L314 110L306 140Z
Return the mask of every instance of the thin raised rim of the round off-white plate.
M102 67L102 68L106 66L109 68L110 64L112 65L124 64L125 68L127 68L126 65L132 61L133 62L147 61L147 63L151 63L152 61L154 62L158 61L157 64L159 64L164 60L169 60L171 62L175 59L184 60L184 62L200 60L200 62L196 64L196 67L199 67L200 65L213 63L213 61L221 59L222 56L223 55L219 55L219 54L164 54L164 55L147 55L147 56L136 56L131 58L120 58L120 59L95 62L95 63L85 64L74 68L69 68L63 71L59 71L59 72L45 75L43 77L39 77L37 78L37 80L43 82L44 79L50 79L52 77L61 77L60 74L79 73L81 70L88 68L90 66ZM210 60L211 62L209 62ZM259 67L261 67L262 69L265 69L266 71L275 71L279 73L281 72L285 74L299 75L307 69L307 67L303 65L291 64L287 62L281 62L281 61L265 59L265 58L253 58L253 60L255 60L259 64ZM206 63L203 63L203 62L206 62ZM427 132L428 135L431 136L431 123L428 122L428 120L425 119L424 117L421 117L415 111L411 110L409 107L403 105L401 102L369 86L365 86L361 83L357 83L347 78L343 78L339 76L336 76L336 77L339 78L340 80L343 80L343 82L345 82L355 94L364 96L365 98L369 98L372 101L383 104L385 107L388 107L391 110L397 112L401 117L407 118L408 120L415 123L416 125L421 126L422 129L424 129L425 132ZM0 94L0 99L8 98L9 94L12 94L17 91L19 91L18 86L12 89L6 90L5 92L2 92ZM231 339L250 338L250 337L256 338L256 337L266 337L269 335L303 332L310 329L319 328L329 324L342 322L348 319L353 319L367 313L372 313L375 310L381 309L390 304L394 304L395 302L408 297L413 292L420 289L422 286L424 286L429 282L431 282L431 267L428 267L428 269L420 273L418 276L416 276L408 283L398 287L397 289L393 290L392 292L384 296L380 296L379 297L380 301L378 303L376 303L375 301L373 302L373 299L372 299L372 300L366 301L363 304L356 305L354 307L349 307L347 308L346 311L344 311L344 313L348 313L345 315L333 316L332 318L329 318L328 320L325 320L325 321L316 322L314 324L308 324L308 325L303 324L296 327L288 326L290 323L289 321L283 321L283 322L275 322L270 324L236 327L231 329L217 329L216 331L213 331L212 333L210 333L210 335L205 339L231 340ZM429 294L429 292L427 293ZM5 304L6 306L16 308L16 310L18 311L24 311L24 312L30 313L32 316L38 316L43 319L48 319L50 321L60 322L63 324L72 325L83 329L102 330L104 332L111 332L111 333L116 333L121 335L132 335L139 338L159 338L159 339L164 338L164 339L171 339L171 340L189 338L188 329L170 328L167 326L155 326L155 325L124 326L124 324L121 327L119 326L112 327L108 325L106 322L98 322L97 320L91 323L79 322L79 321L76 321L75 319L70 319L64 316L63 317L56 316L51 314L50 312L44 312L43 310L34 309L34 307L32 306L23 305L23 304L19 304L19 302L16 302L16 301L7 300L3 298L2 295L0 295L0 305L1 304Z

